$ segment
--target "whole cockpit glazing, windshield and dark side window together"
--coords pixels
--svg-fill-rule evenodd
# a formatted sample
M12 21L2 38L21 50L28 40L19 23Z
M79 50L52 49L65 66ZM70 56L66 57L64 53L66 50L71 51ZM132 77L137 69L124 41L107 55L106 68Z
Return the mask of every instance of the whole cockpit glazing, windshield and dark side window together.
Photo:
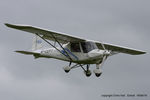
M97 49L97 46L93 42L76 42L70 43L70 49L72 52L81 52L88 53L93 49Z

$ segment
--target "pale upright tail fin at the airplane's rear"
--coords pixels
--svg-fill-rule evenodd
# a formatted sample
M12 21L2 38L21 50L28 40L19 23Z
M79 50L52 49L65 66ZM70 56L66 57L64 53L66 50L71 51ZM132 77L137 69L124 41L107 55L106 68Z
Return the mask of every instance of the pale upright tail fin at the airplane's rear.
M33 37L33 42L32 42L32 51L35 51L41 48L42 48L42 40L40 39L40 37L35 35Z

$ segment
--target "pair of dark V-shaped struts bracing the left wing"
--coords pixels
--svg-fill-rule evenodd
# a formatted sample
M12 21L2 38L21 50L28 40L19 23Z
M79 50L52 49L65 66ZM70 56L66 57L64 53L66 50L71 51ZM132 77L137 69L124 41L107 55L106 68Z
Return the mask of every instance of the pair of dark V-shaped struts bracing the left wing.
M43 39L46 43L48 43L49 45L51 45L53 48L55 48L57 51L59 51L61 54L63 54L58 48L56 48L54 45L52 45L49 41L47 41L46 39L44 39L42 36L40 36L39 34L36 34L36 35L39 36L41 39ZM53 36L53 38L59 44L59 46L65 51L66 55L65 54L63 54L63 55L66 56L67 58L69 58L70 59L70 63L71 63L72 62L72 58L69 56L68 52L62 47L62 45L60 44L60 42L54 36Z

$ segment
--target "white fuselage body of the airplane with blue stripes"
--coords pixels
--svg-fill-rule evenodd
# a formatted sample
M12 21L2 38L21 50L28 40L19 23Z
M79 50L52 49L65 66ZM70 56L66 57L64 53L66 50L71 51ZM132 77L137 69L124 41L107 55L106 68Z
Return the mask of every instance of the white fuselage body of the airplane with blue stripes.
M70 61L67 57L66 53L62 48L58 48L62 53L60 53L55 48L37 50L36 53L39 53L39 57L48 57L48 58L55 58L64 61ZM65 48L68 55L71 57L72 62L74 63L81 63L81 64L96 64L99 63L103 58L104 50L94 49L88 53L83 52L71 52L69 48ZM66 56L65 56L66 55Z

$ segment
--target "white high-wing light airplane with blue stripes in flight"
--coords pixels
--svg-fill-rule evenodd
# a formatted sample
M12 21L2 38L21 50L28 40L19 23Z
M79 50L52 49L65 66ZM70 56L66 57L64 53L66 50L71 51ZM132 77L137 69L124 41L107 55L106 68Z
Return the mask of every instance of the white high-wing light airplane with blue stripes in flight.
M130 55L140 55L146 53L140 50L93 40L86 40L79 37L28 25L12 25L8 23L5 25L10 28L35 34L32 50L16 52L26 55L33 55L35 58L55 58L67 61L69 62L69 65L63 67L66 73L68 73L71 69L80 67L84 70L85 75L89 77L92 73L89 69L90 64L96 64L96 68L93 70L93 72L97 77L99 77L102 74L101 66L109 56L118 53L125 53ZM41 46L41 40L48 43L52 48L43 49ZM56 46L56 43L59 45L58 47Z

